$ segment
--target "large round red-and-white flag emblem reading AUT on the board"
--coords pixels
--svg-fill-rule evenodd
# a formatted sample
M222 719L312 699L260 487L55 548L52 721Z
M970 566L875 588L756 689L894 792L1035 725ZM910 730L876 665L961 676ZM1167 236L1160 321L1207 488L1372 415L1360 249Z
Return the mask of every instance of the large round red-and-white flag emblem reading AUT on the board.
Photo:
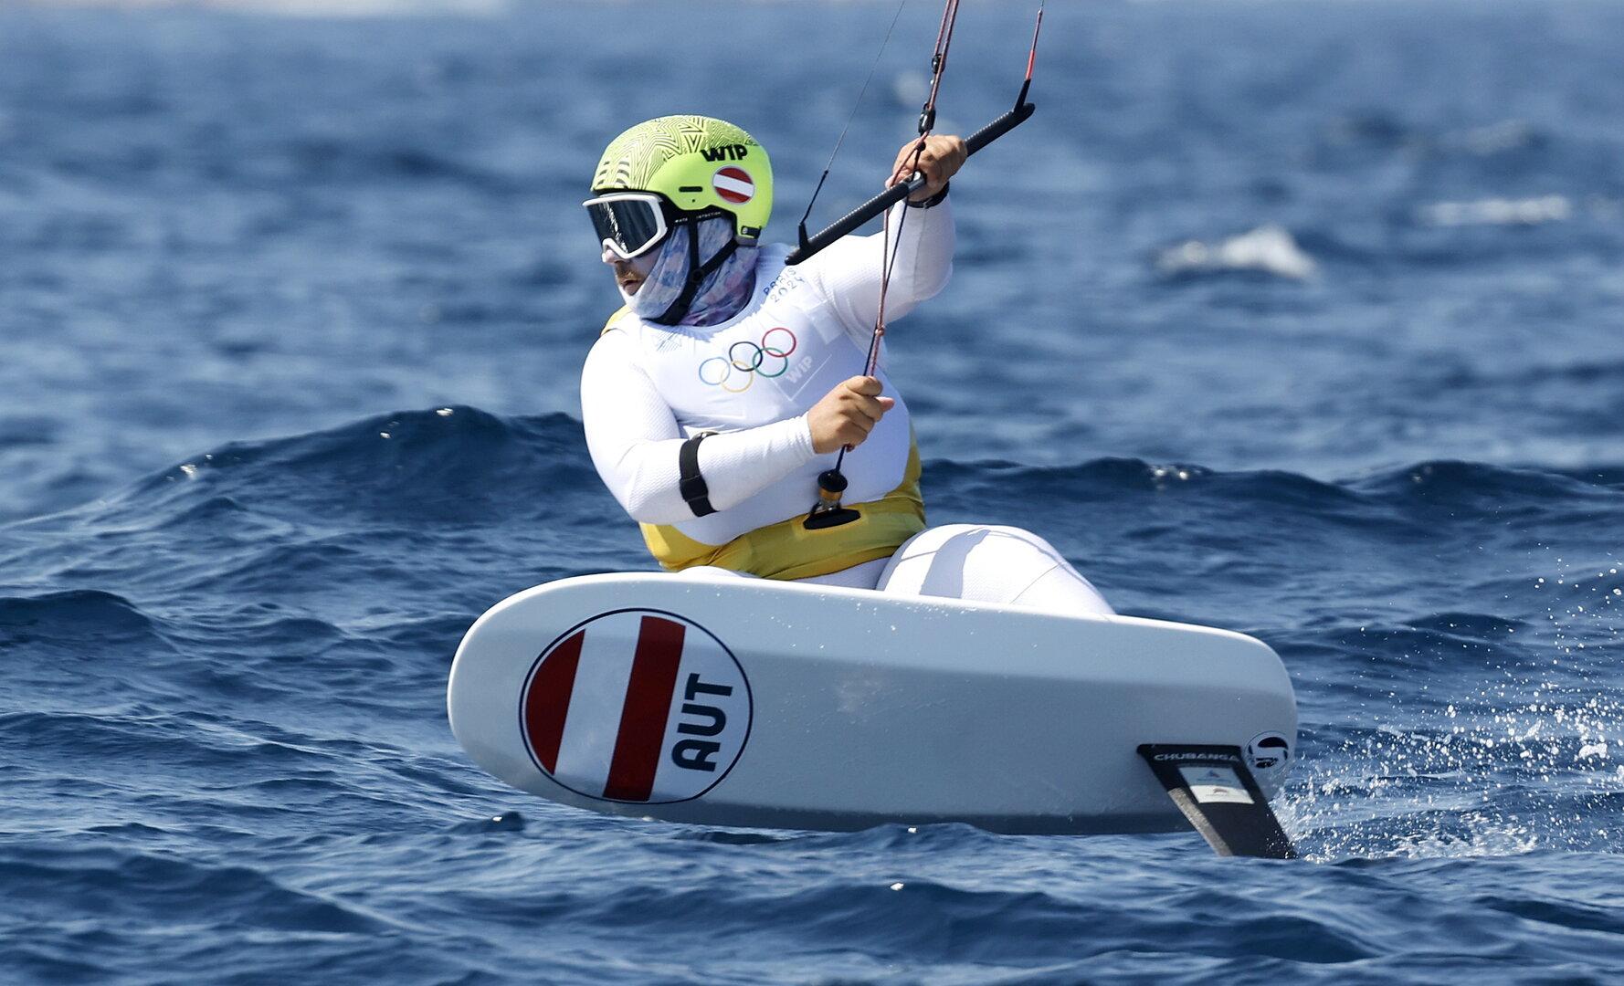
M596 616L536 659L520 698L531 759L604 801L698 798L750 736L750 685L698 624L671 612Z

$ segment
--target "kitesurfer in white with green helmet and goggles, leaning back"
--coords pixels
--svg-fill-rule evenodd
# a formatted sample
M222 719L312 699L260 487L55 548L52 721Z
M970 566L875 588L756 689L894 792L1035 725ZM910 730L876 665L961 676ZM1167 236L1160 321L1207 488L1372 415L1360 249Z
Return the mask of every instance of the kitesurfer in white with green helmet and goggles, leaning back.
M952 273L965 141L922 140L890 175L927 179L895 206L890 244L848 236L786 266L788 247L760 242L773 171L749 133L676 115L617 136L585 203L625 302L581 372L593 465L674 572L1109 614L1036 534L926 528L908 406L883 367L864 375L882 297L901 317ZM807 523L841 447L856 517Z

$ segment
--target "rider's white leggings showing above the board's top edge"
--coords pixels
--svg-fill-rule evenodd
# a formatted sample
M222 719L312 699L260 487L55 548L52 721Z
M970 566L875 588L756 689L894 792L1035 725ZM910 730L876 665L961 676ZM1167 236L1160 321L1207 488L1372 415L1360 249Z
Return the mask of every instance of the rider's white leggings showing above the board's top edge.
M684 569L680 575L755 578L710 565ZM919 531L888 559L797 582L879 590L900 596L1010 603L1069 616L1116 612L1099 590L1038 534L1020 528L974 523Z

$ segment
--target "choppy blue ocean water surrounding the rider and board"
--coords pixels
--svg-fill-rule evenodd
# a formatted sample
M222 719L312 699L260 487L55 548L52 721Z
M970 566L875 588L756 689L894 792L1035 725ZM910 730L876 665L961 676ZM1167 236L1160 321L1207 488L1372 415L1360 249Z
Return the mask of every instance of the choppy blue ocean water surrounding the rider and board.
M0 6L0 981L1624 978L1624 8L1051 5L892 330L934 523L1281 653L1306 863L474 768L468 624L650 567L578 421L598 151L729 117L789 239L895 6L304 10ZM1013 99L1030 15L965 6L944 128Z

